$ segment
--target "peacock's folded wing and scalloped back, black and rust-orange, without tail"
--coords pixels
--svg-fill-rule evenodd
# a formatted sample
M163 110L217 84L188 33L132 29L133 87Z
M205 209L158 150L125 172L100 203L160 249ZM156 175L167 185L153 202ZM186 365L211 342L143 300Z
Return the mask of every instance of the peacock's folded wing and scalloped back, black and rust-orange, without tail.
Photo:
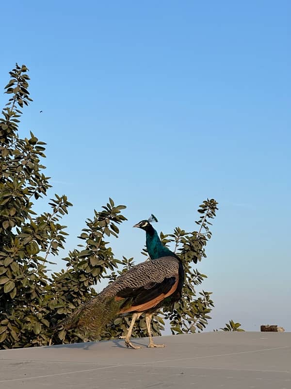
M133 266L102 292L122 301L119 313L143 312L154 308L172 295L178 286L179 263L174 257L162 257Z

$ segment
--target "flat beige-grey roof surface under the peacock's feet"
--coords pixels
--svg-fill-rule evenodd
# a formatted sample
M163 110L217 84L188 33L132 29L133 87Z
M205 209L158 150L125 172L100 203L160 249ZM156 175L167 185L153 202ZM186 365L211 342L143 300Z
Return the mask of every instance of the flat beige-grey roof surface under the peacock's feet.
M291 333L212 332L0 351L5 389L290 389Z

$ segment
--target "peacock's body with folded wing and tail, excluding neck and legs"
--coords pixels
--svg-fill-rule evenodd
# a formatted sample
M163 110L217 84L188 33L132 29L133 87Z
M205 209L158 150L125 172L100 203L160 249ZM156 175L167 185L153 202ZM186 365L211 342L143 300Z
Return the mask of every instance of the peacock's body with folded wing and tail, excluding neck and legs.
M135 265L59 325L63 324L65 329L78 327L82 332L98 336L118 313L144 312L175 293L178 269L179 262L175 257Z

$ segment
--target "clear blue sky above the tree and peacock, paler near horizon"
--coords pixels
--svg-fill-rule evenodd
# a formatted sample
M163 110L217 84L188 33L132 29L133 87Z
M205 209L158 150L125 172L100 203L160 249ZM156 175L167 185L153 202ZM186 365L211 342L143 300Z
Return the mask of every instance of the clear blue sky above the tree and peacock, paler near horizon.
M50 195L74 204L67 250L109 196L129 219L113 251L137 262L133 224L154 213L159 231L193 230L215 198L197 265L208 329L291 331L291 2L16 0L0 12L1 85L15 62L32 78L20 136L48 143Z

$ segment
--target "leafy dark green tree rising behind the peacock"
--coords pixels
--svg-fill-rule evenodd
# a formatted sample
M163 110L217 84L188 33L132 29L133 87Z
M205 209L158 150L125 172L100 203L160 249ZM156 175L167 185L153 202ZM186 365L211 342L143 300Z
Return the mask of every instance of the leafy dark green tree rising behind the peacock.
M25 65L16 64L10 71L5 93L11 97L0 118L0 347L30 347L87 340L76 330L53 330L81 303L97 295L93 285L101 279L112 282L134 264L133 258L118 260L106 242L118 237L126 217L124 205L115 205L110 198L102 211L94 211L81 231L81 248L64 258L66 268L48 276L49 258L64 248L67 232L61 219L72 204L65 195L50 199L50 212L36 214L34 202L47 195L49 177L43 173L45 144L31 132L28 138L18 136L22 111L32 101L28 91L29 76ZM181 256L186 282L183 298L173 311L163 310L152 321L153 335L161 335L164 320L169 320L173 334L202 331L213 307L210 292L196 297L194 287L206 275L193 264L206 257L205 246L211 238L210 219L215 217L217 202L205 200L199 207L198 231L176 228L172 234L161 233L164 244L174 244ZM143 251L146 254L145 250ZM110 272L110 274L107 274ZM123 333L129 318L116 318L101 338ZM133 336L146 336L144 318L136 323Z

